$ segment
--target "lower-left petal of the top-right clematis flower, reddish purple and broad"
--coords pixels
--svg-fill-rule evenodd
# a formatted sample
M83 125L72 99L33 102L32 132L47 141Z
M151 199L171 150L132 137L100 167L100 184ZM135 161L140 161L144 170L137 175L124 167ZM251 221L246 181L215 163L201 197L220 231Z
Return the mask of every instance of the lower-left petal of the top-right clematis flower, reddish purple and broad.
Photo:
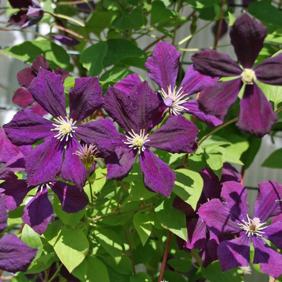
M225 120L228 110L237 99L243 86L240 78L208 86L201 91L199 102L203 110Z

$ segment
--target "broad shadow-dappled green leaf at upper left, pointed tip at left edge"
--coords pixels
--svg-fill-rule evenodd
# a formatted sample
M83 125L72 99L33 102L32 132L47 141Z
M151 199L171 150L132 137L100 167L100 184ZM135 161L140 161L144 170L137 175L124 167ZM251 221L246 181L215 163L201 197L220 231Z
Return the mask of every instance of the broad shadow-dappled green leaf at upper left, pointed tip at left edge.
M26 41L4 49L0 54L11 56L29 64L32 64L37 56L43 54L51 69L58 67L67 69L69 66L67 52L61 46L46 40Z

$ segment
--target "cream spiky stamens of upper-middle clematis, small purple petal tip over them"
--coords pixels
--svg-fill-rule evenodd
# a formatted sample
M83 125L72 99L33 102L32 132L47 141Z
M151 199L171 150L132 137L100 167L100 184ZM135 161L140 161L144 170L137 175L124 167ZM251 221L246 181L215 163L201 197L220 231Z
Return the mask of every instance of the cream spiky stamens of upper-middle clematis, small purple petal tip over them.
M163 114L166 114L167 111L169 111L169 114L170 115L180 115L180 113L183 111L183 110L187 110L187 108L181 106L182 104L184 104L188 99L189 97L187 97L188 93L187 94L183 94L184 91L181 91L182 90L182 87L180 87L178 89L178 91L176 91L176 86L173 88L171 88L171 86L167 86L167 92L162 88L161 90L161 94L162 94L162 97L164 99L167 99L167 98L170 98L172 99L172 105L170 105L167 109L164 110Z

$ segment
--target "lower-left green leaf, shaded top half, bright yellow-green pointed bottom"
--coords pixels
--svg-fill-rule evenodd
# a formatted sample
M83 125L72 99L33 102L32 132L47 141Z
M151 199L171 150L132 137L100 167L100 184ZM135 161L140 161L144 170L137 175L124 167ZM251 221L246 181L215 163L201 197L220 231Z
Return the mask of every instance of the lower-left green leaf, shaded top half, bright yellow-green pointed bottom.
M80 229L63 226L54 250L64 266L72 272L84 260L89 251L89 243Z

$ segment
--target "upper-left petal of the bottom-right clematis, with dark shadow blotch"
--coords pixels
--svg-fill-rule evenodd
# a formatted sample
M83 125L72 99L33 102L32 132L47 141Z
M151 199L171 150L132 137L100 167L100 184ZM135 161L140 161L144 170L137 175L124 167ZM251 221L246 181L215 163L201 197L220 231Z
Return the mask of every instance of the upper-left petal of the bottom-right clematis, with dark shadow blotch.
M228 181L222 184L220 196L228 211L239 221L247 220L247 194L247 188L239 182Z

